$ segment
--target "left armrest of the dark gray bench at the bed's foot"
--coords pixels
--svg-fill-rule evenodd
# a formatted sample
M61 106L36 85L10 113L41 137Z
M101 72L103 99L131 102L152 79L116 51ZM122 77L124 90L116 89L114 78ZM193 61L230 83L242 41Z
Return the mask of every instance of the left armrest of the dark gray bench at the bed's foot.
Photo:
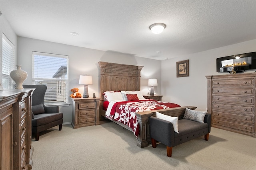
M162 144L172 147L174 145L174 128L171 122L156 117L149 117L150 137Z

